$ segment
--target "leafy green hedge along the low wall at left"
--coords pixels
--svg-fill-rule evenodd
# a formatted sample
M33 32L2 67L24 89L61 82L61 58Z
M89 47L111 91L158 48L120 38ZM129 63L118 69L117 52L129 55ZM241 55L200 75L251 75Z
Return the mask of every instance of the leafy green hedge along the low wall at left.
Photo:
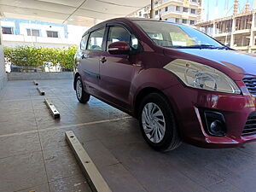
M68 48L46 48L32 46L4 47L6 61L19 67L43 67L44 64L60 64L62 68L73 69L77 46Z

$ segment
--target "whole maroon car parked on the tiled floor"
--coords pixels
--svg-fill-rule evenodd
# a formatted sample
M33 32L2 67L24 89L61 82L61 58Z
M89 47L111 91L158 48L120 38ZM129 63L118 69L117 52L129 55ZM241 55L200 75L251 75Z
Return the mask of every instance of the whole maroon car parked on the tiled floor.
M139 119L156 150L256 140L255 55L189 26L131 18L93 26L75 57L74 89L79 102L96 96Z

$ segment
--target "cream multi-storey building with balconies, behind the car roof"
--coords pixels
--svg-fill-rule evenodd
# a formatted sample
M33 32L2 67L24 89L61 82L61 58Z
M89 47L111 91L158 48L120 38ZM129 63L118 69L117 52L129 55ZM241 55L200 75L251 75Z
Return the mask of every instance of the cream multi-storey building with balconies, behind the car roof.
M131 17L150 17L150 5L132 13ZM159 0L154 2L154 18L181 23L183 25L195 25L201 21L203 0Z

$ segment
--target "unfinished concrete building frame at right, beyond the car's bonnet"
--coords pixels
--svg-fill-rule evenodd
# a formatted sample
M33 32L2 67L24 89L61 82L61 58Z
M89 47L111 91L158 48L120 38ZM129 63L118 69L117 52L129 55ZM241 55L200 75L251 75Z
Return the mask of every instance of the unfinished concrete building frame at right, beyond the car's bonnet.
M256 0L253 9L248 2L241 12L238 9L239 0L235 0L233 15L199 22L195 26L232 49L256 53Z

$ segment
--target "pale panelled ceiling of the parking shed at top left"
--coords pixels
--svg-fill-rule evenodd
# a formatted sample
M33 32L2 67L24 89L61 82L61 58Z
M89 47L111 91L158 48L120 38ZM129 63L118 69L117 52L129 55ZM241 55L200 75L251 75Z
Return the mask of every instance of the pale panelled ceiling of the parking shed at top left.
M70 25L92 26L131 14L150 0L0 0L0 15Z

